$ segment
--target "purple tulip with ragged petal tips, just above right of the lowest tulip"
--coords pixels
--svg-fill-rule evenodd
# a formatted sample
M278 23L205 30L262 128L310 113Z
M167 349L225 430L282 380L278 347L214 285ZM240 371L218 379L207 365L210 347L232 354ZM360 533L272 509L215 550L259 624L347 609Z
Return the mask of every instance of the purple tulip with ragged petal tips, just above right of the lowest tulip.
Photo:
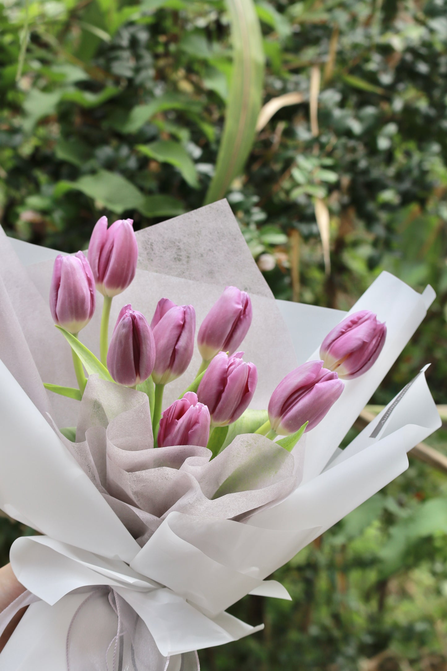
M197 390L200 403L208 406L213 426L227 426L249 407L257 385L257 368L242 360L243 352L216 354Z

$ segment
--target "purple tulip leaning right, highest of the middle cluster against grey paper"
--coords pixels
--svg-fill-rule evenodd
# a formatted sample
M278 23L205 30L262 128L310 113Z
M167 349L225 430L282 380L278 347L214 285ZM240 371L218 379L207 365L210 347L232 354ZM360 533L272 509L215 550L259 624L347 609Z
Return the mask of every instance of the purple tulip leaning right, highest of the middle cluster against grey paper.
M198 331L197 344L204 361L210 361L218 352L236 352L247 335L252 317L249 295L237 287L227 287Z

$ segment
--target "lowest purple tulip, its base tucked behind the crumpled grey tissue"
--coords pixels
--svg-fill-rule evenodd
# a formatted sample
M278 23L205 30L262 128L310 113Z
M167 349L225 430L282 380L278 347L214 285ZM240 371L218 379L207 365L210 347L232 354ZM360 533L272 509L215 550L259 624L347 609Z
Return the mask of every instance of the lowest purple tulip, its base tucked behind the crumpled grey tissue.
M158 431L158 447L198 445L206 448L210 435L210 412L198 403L197 395L186 392L164 411Z

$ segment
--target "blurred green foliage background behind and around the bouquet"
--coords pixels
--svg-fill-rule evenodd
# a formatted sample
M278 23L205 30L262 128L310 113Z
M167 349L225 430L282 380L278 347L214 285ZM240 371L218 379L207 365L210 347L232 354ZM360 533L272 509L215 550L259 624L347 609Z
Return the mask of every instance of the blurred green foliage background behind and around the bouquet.
M430 282L438 298L374 402L387 403L432 361L430 387L447 403L446 1L134 1L1 5L8 234L72 252L100 214L133 217L139 228L223 190L279 298L348 309L382 270L418 291ZM251 116L258 94L266 103L298 93L300 102L255 134L245 171L227 184L225 112L243 103L233 95L235 6L253 9L262 31L262 53L261 42L251 47ZM227 117L225 134L239 121ZM249 145L248 121L243 130ZM315 199L330 213L330 274ZM431 444L445 452L446 431ZM265 632L202 653L202 667L446 670L446 531L445 476L412 460L277 572L294 603L247 597L233 607L265 621ZM0 519L2 560L23 533Z

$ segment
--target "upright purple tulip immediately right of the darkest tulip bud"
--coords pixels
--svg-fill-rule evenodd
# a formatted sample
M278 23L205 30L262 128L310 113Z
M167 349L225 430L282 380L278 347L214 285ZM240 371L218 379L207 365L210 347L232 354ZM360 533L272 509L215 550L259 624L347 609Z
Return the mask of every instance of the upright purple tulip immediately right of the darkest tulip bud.
M188 368L194 352L196 312L192 305L176 305L162 298L151 321L155 339L155 384L168 384Z

